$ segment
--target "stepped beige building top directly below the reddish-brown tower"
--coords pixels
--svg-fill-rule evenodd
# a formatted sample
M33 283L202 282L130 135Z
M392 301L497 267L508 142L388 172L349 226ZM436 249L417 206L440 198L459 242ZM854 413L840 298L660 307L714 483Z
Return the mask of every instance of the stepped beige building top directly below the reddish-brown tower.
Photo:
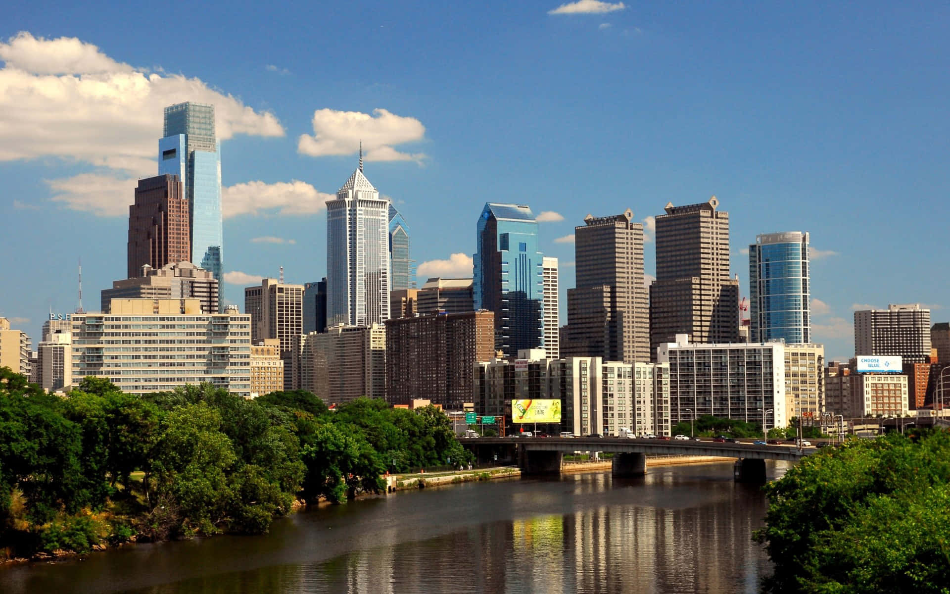
M102 292L102 311L109 313L112 299L199 299L201 312L217 314L218 278L191 262L152 268L145 264L135 277L113 280Z

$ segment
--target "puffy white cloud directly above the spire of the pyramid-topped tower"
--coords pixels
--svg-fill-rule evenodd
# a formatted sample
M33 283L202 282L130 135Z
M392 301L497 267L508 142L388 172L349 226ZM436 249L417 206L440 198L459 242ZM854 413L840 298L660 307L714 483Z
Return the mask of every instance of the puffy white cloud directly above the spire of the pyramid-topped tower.
M366 161L415 161L423 153L401 153L395 144L423 140L426 126L415 118L397 116L386 109L373 109L372 115L360 111L317 109L314 111L314 135L301 134L297 152L312 157L352 155L363 143Z

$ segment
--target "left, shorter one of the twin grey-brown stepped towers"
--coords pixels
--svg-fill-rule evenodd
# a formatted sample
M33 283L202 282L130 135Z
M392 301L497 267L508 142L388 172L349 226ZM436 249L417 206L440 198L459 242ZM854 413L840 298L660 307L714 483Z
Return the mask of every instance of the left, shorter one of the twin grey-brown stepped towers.
M563 354L650 360L643 224L633 217L629 208L610 217L587 215L574 228L576 288L567 291Z

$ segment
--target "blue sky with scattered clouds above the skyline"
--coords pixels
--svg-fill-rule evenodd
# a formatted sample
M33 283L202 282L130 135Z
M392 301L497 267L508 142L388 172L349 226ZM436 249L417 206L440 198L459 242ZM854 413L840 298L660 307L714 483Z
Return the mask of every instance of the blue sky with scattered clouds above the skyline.
M421 277L464 268L485 201L527 203L562 217L541 232L563 300L574 249L558 240L587 213L642 220L714 194L743 295L756 234L811 233L813 335L830 357L852 354L855 307L950 317L950 6L562 4L7 7L0 315L38 336L50 308L75 307L79 258L98 306L124 276L161 107L195 100L218 105L239 304L280 265L289 281L325 275L322 201L361 138Z

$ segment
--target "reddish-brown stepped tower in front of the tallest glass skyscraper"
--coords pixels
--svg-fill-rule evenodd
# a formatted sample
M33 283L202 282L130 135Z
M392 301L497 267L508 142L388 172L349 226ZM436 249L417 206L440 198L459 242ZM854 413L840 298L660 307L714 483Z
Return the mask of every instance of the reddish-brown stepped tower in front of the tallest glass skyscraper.
M142 266L161 268L191 259L190 212L177 175L139 180L128 207L129 278L142 275Z

